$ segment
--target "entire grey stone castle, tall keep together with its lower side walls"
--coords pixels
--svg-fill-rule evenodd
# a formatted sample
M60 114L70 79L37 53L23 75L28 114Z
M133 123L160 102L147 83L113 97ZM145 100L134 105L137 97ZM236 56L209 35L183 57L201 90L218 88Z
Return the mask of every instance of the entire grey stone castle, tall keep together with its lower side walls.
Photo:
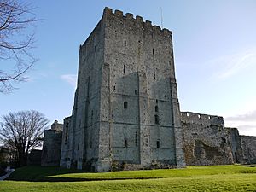
M172 32L105 8L80 45L72 115L44 133L42 166L108 172L255 161L256 137L225 128L220 116L180 112Z

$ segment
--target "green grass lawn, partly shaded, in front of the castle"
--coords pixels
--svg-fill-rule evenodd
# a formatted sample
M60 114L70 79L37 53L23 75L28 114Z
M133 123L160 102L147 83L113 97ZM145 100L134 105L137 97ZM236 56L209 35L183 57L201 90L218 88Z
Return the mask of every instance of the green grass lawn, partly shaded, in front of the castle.
M16 170L0 191L256 191L256 167L189 166L186 169L82 173L57 167Z

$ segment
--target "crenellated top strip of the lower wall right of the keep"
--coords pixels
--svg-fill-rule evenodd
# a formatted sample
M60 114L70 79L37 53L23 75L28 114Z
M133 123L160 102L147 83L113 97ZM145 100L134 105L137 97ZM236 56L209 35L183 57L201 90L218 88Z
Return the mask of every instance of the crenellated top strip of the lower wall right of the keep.
M223 125L223 117L209 114L181 112L181 121L183 123L198 124L198 125Z

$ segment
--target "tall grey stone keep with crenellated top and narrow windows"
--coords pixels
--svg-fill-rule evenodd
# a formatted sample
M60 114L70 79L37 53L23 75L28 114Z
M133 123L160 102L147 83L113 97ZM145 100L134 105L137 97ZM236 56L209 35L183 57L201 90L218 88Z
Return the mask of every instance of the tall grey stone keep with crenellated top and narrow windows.
M172 32L104 9L80 46L61 166L90 172L185 166Z

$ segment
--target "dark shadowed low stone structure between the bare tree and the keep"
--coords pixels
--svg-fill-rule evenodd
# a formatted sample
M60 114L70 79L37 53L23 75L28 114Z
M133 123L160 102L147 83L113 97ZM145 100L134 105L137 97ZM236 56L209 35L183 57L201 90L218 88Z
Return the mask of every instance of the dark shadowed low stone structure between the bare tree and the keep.
M55 120L50 130L44 131L44 145L41 166L59 166L63 125Z

